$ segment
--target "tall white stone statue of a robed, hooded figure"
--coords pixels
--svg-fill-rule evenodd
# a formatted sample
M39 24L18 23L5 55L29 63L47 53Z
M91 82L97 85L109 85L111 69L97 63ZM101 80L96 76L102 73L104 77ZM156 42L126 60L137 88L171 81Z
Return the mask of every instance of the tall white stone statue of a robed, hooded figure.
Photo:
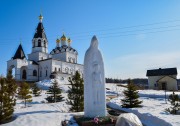
M85 117L106 116L104 63L96 36L84 59L84 113Z

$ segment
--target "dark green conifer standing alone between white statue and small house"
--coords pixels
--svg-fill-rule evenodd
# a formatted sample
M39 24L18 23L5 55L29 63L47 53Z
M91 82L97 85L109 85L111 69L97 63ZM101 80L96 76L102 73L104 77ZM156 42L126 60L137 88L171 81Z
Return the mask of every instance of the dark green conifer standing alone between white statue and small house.
M122 99L122 107L124 108L135 108L135 107L141 107L142 101L139 101L139 95L138 91L133 84L133 82L129 79L128 80L128 85L127 85L127 90L123 91L125 98Z

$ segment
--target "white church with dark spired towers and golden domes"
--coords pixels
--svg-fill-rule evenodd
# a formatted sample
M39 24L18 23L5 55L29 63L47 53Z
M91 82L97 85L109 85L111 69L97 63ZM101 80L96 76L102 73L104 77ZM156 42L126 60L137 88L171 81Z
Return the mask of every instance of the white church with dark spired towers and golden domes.
M48 39L42 15L39 20L28 58L20 44L14 56L7 61L7 71L14 69L17 81L41 81L58 77L67 83L75 71L83 75L83 65L77 63L78 52L71 47L71 39L64 34L56 40L56 47L48 53Z

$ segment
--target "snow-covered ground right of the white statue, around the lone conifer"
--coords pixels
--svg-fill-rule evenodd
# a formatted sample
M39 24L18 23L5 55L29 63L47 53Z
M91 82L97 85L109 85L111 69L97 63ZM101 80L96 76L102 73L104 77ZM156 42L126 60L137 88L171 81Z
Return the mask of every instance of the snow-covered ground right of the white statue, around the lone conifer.
M107 87L112 87L119 97L111 99L107 104L115 109L124 110L136 114L146 126L180 126L180 115L171 115L165 112L166 108L170 107L170 103L165 102L165 92L157 90L139 90L140 100L143 101L142 108L125 109L121 108L121 99L123 98L122 91L124 87L106 84ZM175 92L180 94L180 92ZM166 92L168 95L172 92Z

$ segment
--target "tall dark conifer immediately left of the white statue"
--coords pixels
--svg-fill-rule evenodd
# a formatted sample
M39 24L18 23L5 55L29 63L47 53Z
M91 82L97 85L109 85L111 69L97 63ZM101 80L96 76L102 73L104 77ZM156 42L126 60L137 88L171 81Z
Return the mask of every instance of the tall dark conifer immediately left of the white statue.
M84 110L84 81L78 71L69 77L71 87L68 91L67 104L71 105L70 111L81 112Z

